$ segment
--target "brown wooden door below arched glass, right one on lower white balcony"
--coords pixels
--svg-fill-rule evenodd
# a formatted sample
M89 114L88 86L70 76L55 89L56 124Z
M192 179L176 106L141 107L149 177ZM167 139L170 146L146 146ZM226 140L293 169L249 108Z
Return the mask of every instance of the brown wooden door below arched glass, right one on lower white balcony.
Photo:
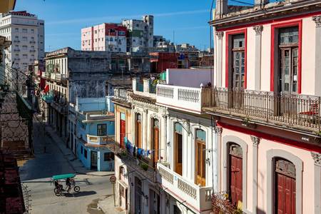
M196 184L205 186L205 175L206 175L206 165L205 165L205 142L197 140L196 141Z

